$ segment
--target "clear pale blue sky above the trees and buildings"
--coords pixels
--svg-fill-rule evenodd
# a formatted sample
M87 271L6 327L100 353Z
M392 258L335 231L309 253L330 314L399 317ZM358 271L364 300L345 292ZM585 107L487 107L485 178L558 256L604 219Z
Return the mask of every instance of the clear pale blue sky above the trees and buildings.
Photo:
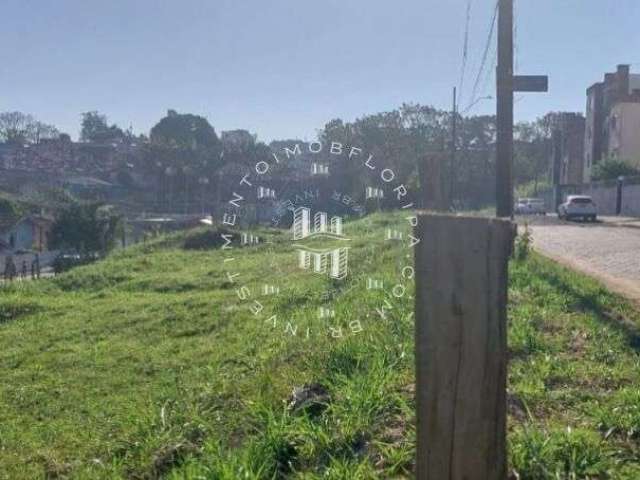
M460 82L467 0L2 0L0 111L77 136L99 110L148 129L168 108L217 131L312 138L402 102L449 108ZM462 106L495 0L472 0ZM518 97L516 118L583 111L585 89L631 63L640 72L637 0L517 0L517 66L549 74ZM491 68L492 53L487 66ZM492 93L483 79L479 96ZM474 113L494 111L480 101Z

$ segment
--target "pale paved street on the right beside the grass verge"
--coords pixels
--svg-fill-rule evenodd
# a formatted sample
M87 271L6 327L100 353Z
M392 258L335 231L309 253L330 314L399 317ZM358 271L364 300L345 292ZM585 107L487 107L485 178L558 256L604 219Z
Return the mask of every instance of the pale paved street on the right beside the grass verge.
M640 303L640 219L609 217L581 223L548 216L517 220L521 228L528 223L534 249Z

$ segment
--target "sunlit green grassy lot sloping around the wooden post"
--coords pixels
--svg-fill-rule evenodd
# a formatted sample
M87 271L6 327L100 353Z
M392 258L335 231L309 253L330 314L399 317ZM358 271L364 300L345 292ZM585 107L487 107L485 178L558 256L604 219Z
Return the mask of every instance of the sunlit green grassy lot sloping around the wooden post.
M387 222L352 227L377 242L359 267L391 278L400 247L381 240ZM273 238L237 260L247 281L289 255ZM285 335L234 300L220 250L183 244L0 289L0 478L411 478L411 320L383 321L371 314L380 292L342 288L335 308L362 333ZM327 281L278 275L292 288L275 310L308 318ZM511 468L640 478L638 312L537 256L512 265L510 297ZM305 383L326 386L324 410L287 408Z

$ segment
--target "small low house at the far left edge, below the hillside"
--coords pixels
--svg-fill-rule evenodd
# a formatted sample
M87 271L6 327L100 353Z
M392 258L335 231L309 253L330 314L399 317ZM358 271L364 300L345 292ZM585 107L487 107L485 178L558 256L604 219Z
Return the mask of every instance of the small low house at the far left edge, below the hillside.
M30 215L19 220L0 219L0 251L17 252L49 250L49 236L53 219Z

